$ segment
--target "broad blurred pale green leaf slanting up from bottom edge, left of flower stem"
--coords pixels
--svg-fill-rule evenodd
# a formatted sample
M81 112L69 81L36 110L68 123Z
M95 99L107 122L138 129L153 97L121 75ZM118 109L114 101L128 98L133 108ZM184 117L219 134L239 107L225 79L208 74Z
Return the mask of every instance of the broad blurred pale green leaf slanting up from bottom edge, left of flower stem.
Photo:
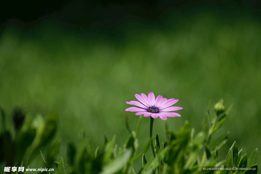
M116 158L108 166L105 166L100 174L113 174L121 170L128 163L128 160L131 158L132 153L133 152L131 149L126 150L121 157Z

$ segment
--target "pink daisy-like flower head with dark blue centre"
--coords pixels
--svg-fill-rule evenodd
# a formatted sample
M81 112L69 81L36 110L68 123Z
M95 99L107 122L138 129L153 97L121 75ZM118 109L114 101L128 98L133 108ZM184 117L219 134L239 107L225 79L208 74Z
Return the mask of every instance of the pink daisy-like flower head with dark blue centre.
M140 101L126 101L126 104L134 105L137 107L129 107L125 111L137 112L135 115L144 115L144 117L161 118L167 120L167 117L181 117L180 114L169 111L183 110L182 107L172 106L179 100L163 98L162 95L157 96L150 92L148 96L141 93L135 94L135 97ZM171 106L171 107L170 107Z

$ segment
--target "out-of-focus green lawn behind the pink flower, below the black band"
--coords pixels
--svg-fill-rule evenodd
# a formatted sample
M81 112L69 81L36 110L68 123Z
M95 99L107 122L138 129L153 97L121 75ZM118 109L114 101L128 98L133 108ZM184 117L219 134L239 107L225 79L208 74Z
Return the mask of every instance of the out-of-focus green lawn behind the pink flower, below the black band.
M138 121L124 111L136 93L179 99L182 117L167 120L175 131L185 120L200 131L209 100L213 111L223 98L226 108L234 105L211 143L213 148L230 131L221 160L234 141L247 154L261 147L260 56L261 22L239 9L167 10L155 21L128 16L109 27L64 27L55 18L33 27L9 21L0 35L0 106L9 116L15 106L32 116L57 111L56 138L65 157L66 143L77 144L81 129L93 153L104 134L116 134L122 146L125 114L131 129ZM149 140L149 124L142 120L140 147ZM164 126L154 121L153 134L163 142ZM145 155L152 157L150 150Z

